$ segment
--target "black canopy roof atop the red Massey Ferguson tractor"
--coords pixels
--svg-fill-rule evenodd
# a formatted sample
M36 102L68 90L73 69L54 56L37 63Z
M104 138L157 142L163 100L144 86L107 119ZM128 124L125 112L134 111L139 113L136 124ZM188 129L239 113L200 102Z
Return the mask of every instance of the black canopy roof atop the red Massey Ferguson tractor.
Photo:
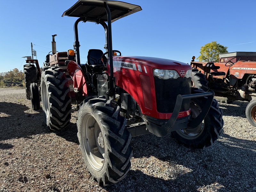
M105 1L105 0L79 0L71 8L62 14L69 17L86 17L87 21L99 22L108 21L107 12L104 8L104 2L108 4L111 12L111 22L122 17L138 12L140 6L125 3L122 1Z

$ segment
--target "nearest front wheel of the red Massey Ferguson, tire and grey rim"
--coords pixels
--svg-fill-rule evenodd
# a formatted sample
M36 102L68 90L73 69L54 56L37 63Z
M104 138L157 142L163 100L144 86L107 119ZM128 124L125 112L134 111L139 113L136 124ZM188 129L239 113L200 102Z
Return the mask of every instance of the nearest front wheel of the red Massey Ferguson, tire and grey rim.
M80 104L77 137L86 169L99 185L124 179L131 168L131 134L126 119L112 100L84 100Z

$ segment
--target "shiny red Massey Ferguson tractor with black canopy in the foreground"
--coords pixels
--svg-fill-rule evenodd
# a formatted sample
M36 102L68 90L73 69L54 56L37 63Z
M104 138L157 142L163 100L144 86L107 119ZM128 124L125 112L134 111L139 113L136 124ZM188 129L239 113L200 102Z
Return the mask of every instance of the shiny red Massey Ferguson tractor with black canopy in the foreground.
M213 92L191 87L191 66L167 59L122 56L112 49L111 24L141 7L120 1L79 0L62 16L78 17L74 50L46 56L41 77L45 122L51 130L68 127L71 104L79 108L79 147L87 170L100 185L122 180L131 168L132 136L171 132L187 147L205 148L223 127ZM100 24L106 52L88 51L80 63L77 25ZM117 53L119 55L117 56Z

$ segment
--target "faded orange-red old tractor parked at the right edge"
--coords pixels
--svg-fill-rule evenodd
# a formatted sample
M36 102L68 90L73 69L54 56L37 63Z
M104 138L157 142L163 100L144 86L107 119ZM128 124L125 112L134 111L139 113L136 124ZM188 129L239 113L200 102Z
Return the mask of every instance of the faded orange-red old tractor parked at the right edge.
M220 53L219 57L219 62L198 62L192 58L193 86L214 91L220 102L250 101L245 115L256 127L256 52Z

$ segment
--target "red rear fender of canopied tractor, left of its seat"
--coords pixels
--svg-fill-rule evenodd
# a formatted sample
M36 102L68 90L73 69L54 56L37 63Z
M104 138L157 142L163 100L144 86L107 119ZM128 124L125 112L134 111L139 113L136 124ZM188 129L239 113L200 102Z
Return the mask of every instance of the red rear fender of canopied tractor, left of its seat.
M81 90L82 95L87 96L86 80L84 78L84 72L81 67L76 62L69 61L67 72L74 81L74 89Z

